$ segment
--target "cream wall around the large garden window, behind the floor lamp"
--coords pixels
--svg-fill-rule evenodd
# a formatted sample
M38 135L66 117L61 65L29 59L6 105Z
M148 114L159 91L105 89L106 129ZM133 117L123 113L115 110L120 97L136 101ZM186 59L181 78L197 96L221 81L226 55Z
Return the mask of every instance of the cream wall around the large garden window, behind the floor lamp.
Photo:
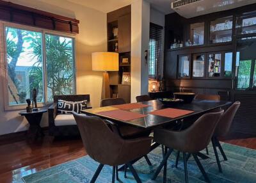
M99 106L102 72L92 71L91 53L107 49L106 13L61 0L11 0L11 2L80 20L79 35L76 36L77 93L90 94L92 106ZM2 35L3 30L0 29L0 32ZM1 48L0 64L3 64L3 49L1 50ZM3 65L0 66L0 81L4 83L5 71ZM0 93L3 93L3 84L0 85ZM0 95L0 135L28 129L28 122L18 113L17 110L4 111L3 95ZM47 126L47 113L44 115L41 125Z

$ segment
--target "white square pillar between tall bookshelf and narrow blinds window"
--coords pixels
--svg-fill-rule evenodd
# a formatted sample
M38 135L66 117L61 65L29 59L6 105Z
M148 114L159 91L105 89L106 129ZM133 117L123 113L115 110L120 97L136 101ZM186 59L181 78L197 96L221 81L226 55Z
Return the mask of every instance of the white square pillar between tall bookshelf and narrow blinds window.
M131 4L131 102L148 93L148 63L144 52L148 50L150 4L137 0Z

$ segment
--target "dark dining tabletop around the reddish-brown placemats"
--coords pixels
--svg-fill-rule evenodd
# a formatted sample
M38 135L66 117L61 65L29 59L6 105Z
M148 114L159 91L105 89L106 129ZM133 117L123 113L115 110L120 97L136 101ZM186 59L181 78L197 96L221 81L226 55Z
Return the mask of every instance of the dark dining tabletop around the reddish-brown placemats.
M92 109L84 109L81 110L81 113L84 113L86 115L90 116L99 116L100 118L106 119L106 120L111 120L112 122L116 123L125 123L127 125L132 125L134 127L140 127L143 129L154 129L155 127L167 125L169 123L174 123L177 120L181 120L183 118L189 118L191 116L195 115L202 115L204 113L207 113L211 111L212 109L217 109L220 107L227 107L232 104L232 102L212 102L208 100L201 100L201 101L196 101L194 100L190 104L179 104L175 106L166 106L163 105L159 100L150 100L147 102L139 102L141 104L146 104L148 105L147 107L142 107L138 109L131 109L127 111L131 111L134 113L140 113L143 115L147 115L143 118L137 118L135 120L118 120L116 118L111 118L109 116L104 116L100 115L99 113L102 111L109 111L115 108L115 106L108 106L108 107L96 107ZM189 110L193 111L193 113L189 113L188 115L183 115L183 116L178 116L176 118L168 118L165 116L158 116L158 115L151 115L150 113L152 111L157 111L159 109L166 109L166 108L175 108L175 109L183 109L183 110Z

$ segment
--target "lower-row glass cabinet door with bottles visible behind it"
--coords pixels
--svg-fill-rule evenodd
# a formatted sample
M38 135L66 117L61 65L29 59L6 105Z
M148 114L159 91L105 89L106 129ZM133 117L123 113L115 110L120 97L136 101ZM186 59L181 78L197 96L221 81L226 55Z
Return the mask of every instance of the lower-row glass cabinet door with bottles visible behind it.
M208 77L220 77L221 75L221 54L209 54L208 56Z

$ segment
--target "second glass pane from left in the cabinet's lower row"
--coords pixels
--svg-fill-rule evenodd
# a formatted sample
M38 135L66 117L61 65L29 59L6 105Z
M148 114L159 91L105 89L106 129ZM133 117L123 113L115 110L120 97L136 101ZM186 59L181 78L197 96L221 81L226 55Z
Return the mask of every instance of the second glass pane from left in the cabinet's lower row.
M204 65L205 65L205 55L204 54L194 54L193 55L193 77L204 77Z

